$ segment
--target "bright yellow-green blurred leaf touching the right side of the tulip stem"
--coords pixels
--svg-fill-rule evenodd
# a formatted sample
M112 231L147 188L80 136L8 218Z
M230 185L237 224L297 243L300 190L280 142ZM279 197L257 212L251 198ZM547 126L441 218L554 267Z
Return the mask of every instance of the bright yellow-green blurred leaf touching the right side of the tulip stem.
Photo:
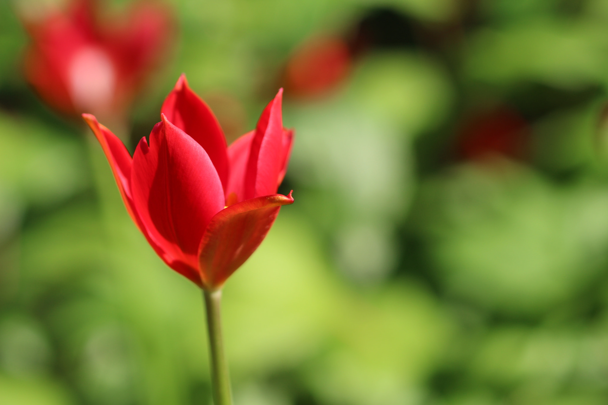
M289 208L226 285L226 344L237 375L295 366L316 353L342 302L308 227Z

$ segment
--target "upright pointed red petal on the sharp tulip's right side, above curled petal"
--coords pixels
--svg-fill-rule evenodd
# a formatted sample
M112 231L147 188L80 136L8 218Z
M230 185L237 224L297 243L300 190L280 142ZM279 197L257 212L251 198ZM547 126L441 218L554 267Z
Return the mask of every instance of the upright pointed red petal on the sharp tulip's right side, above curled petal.
M277 192L277 179L284 163L282 98L283 89L280 89L255 128L245 175L246 199Z

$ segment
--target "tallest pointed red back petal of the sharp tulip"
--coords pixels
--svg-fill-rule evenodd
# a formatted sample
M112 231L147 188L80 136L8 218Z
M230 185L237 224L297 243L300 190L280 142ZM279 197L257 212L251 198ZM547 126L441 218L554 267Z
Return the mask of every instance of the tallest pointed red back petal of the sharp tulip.
M218 172L222 185L226 188L228 183L226 137L209 106L188 87L185 75L179 77L178 83L165 98L161 112L167 116L167 120L190 135L205 149Z

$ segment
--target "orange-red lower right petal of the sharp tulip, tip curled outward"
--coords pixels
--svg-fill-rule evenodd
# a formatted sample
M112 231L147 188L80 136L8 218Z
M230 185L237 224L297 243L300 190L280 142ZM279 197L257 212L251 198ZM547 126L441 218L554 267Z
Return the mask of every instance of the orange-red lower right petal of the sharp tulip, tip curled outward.
M281 206L293 202L290 192L289 196L245 200L219 211L207 226L199 248L203 288L220 288L260 246Z

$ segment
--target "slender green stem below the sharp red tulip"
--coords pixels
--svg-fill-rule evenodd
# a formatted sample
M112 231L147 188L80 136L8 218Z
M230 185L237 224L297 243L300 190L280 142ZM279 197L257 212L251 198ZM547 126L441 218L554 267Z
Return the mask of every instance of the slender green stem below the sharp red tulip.
M203 290L207 309L207 331L209 332L209 354L211 356L211 384L214 405L232 405L230 375L224 355L221 327L222 291Z

